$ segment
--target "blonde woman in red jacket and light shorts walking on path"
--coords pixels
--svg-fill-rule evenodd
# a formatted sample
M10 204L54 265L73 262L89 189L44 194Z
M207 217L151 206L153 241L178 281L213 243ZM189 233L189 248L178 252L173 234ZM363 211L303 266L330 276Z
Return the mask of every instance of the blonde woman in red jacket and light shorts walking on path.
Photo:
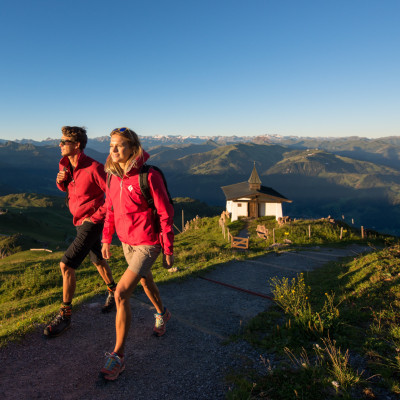
M132 318L129 299L139 282L157 311L153 329L156 336L165 333L166 322L171 318L161 301L151 267L161 251L166 268L171 268L174 263L174 209L158 171L152 168L148 171L148 185L156 213L141 192L140 169L150 156L142 149L137 134L128 128L117 128L110 136L110 155L105 164L110 179L106 188L102 255L105 259L110 258L110 244L116 231L128 263L115 291L114 351L106 354L107 360L101 370L105 379L115 380L125 369L125 343Z

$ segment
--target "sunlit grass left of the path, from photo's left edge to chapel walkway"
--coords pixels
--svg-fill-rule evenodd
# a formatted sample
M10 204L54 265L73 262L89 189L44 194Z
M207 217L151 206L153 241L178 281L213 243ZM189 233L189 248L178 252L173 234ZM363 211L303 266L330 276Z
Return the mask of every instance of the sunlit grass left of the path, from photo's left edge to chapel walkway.
M162 267L161 257L158 258L153 267L157 282L179 281L246 256L231 250L230 242L218 227L218 217L200 218L196 226L192 223L191 229L176 236L177 272L169 273ZM62 299L59 267L62 255L62 251L22 251L0 260L0 345L22 337L58 310ZM126 269L121 247L112 246L110 266L118 281ZM77 270L74 306L104 291L104 282L87 258Z

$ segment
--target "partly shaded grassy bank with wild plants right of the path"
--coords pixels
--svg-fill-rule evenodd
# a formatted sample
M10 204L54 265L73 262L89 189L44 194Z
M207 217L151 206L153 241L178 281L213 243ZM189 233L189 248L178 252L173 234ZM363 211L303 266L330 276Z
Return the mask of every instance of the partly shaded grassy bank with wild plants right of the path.
M229 399L400 395L399 244L271 283L278 301L239 337L276 361L230 376Z

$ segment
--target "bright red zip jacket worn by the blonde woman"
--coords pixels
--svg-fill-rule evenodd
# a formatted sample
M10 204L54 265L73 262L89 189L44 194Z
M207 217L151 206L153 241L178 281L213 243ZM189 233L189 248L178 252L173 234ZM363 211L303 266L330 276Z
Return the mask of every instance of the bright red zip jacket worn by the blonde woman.
M150 169L148 182L161 232L157 233L153 210L148 206L139 186L139 170L149 158L144 152L138 165L121 179L112 175L106 189L107 214L103 228L103 243L111 243L115 231L121 242L131 246L161 244L164 254L173 254L174 208L169 202L159 172Z

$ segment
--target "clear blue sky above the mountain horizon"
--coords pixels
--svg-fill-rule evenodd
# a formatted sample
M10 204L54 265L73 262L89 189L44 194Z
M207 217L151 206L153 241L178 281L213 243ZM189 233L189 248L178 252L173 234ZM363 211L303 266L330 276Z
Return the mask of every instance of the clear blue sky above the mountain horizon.
M400 134L400 1L2 0L0 138Z

